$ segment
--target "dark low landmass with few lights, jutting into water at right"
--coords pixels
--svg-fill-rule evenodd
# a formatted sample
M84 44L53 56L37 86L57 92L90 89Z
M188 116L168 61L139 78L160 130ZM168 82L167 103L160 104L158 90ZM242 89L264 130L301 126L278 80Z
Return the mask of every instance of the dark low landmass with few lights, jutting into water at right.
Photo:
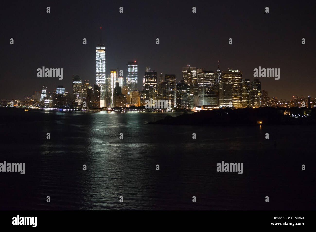
M259 121L259 122L258 122ZM261 121L261 123L260 123ZM294 125L315 124L316 109L304 107L292 108L244 108L201 110L192 114L148 122L150 124L169 125Z

